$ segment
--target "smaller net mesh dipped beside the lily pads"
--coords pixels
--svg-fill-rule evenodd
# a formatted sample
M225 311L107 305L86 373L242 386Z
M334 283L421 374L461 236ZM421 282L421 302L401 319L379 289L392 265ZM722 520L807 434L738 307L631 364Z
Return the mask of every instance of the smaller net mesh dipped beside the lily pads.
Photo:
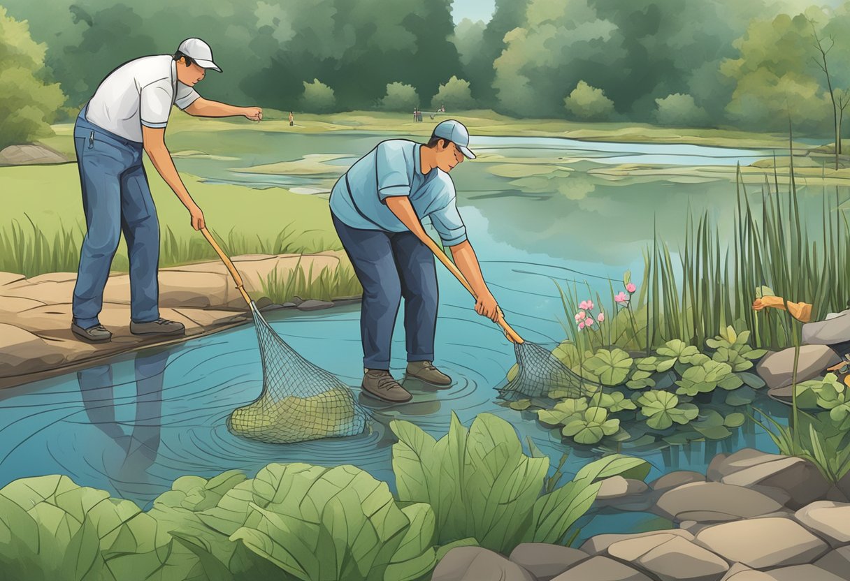
M558 390L559 398L581 398L601 387L575 373L536 343L514 343L513 351L517 356L517 375L499 389L503 399L547 398L553 390Z

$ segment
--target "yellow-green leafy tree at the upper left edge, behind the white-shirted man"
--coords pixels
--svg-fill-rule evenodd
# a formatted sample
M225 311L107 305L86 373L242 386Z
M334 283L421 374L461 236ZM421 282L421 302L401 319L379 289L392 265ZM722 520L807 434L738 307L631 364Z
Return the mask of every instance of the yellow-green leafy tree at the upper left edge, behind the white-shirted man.
M53 134L50 122L65 103L59 84L45 80L43 44L26 22L0 6L0 149Z

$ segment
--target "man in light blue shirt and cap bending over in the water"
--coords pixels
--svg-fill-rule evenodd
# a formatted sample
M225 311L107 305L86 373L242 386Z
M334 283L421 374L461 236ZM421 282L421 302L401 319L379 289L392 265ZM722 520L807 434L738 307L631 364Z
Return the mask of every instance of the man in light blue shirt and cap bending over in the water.
M331 191L334 227L363 285L362 387L385 401L411 399L410 392L389 373L401 297L405 299L406 375L435 386L451 384L450 377L433 365L437 274L433 253L422 242L428 236L423 218L430 218L473 287L478 296L476 312L494 321L501 314L457 212L449 172L465 157L475 159L467 128L460 121L443 121L434 127L428 144L407 139L378 144Z

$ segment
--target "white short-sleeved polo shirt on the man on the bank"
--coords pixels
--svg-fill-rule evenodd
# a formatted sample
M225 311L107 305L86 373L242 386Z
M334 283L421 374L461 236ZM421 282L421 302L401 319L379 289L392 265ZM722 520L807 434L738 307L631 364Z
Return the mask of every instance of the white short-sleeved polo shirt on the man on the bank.
M88 101L86 121L141 143L143 125L165 127L173 104L185 109L201 97L178 82L176 65L170 54L157 54L119 66Z

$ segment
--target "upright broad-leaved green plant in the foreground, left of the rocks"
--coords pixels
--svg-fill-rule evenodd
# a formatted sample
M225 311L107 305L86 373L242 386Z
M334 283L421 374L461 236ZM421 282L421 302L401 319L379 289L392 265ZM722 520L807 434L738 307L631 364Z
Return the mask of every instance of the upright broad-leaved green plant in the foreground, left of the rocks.
M523 542L564 542L592 505L601 479L643 478L649 471L645 461L615 454L541 492L549 459L524 454L513 426L495 415L481 414L467 429L452 414L439 440L407 421L390 427L399 437L393 446L399 500L433 507L439 544L472 538L507 554Z

